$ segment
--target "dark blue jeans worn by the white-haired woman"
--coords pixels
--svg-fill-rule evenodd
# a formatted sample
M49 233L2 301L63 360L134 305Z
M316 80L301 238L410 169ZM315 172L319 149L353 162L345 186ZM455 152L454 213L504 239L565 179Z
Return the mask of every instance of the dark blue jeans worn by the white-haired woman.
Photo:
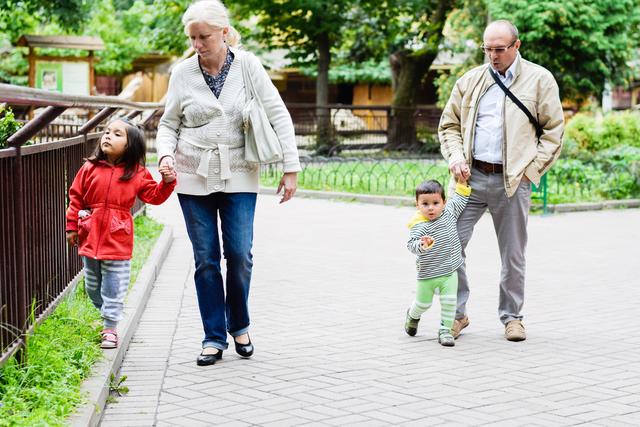
M249 330L249 283L253 267L256 193L178 194L196 263L195 283L204 327L202 347L225 350ZM226 298L220 270L220 238L227 261Z

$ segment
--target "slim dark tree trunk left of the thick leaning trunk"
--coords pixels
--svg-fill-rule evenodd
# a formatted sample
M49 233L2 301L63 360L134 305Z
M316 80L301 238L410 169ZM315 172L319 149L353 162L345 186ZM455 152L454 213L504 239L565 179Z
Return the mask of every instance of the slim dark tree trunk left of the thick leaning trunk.
M332 138L331 111L329 104L329 65L331 64L331 42L329 34L318 36L318 78L316 79L316 152L327 155L335 152L335 141Z

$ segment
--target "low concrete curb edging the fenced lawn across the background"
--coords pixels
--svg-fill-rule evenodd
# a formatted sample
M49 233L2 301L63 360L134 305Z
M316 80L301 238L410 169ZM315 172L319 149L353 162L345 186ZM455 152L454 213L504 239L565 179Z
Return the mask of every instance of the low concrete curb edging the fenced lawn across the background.
M275 188L261 187L260 194L275 194ZM337 191L297 190L297 197L310 199L338 200L341 202L372 203L386 206L415 206L415 199L409 196L376 196L371 194L341 193ZM593 203L563 203L547 205L550 213L584 212L602 209L638 208L640 199L605 200ZM532 208L541 210L542 205L534 203Z

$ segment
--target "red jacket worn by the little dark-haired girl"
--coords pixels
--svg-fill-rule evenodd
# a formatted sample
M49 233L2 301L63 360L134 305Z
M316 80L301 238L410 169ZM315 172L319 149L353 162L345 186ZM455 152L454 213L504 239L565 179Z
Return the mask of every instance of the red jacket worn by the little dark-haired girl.
M89 161L78 171L69 189L67 231L78 232L78 253L94 259L131 259L133 217L136 196L145 203L159 205L169 198L176 181L156 181L144 167L128 181L120 181L124 166L105 161ZM78 218L80 210L90 215Z

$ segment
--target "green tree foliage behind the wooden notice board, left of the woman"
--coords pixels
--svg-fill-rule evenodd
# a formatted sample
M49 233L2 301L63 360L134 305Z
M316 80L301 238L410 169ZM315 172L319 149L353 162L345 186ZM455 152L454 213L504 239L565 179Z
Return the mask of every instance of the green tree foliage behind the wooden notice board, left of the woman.
M190 0L0 0L0 4L6 6L0 8L0 81L27 84L26 50L12 48L22 34L99 36L105 50L96 52L96 71L107 75L130 70L144 53L180 55L187 47L180 19ZM78 51L41 53L77 55Z

